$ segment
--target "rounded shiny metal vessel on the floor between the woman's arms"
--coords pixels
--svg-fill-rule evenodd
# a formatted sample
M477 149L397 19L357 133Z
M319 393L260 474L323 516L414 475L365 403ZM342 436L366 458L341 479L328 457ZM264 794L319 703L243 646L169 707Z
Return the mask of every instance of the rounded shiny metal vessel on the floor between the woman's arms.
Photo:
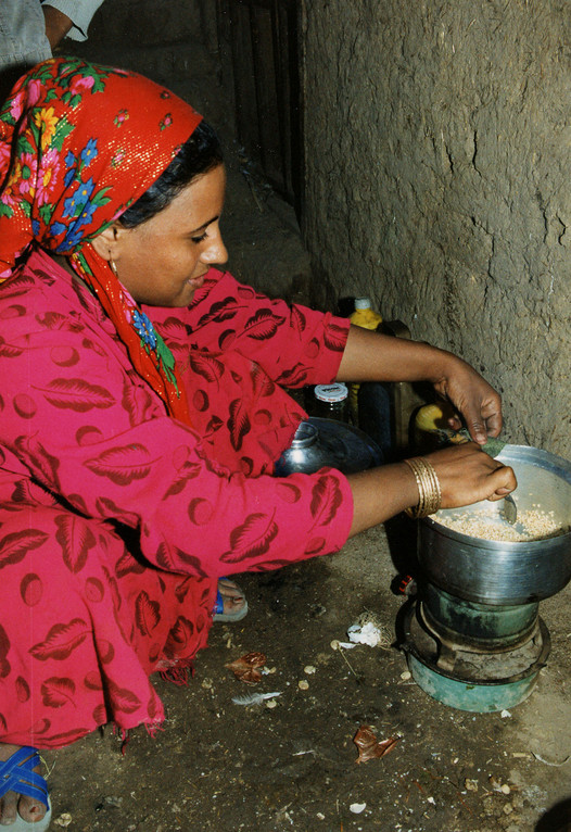
M337 419L312 416L302 421L290 447L276 463L275 474L314 474L329 466L343 474L356 474L382 465L382 453L363 430Z

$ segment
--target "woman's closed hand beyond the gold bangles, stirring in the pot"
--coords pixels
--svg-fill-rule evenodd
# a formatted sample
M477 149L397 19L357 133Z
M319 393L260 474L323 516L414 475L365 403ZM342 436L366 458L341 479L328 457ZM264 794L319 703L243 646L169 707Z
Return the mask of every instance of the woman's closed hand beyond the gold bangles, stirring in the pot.
M486 454L475 442L443 447L423 458L439 478L442 508L458 508L480 500L503 500L518 484L513 470Z

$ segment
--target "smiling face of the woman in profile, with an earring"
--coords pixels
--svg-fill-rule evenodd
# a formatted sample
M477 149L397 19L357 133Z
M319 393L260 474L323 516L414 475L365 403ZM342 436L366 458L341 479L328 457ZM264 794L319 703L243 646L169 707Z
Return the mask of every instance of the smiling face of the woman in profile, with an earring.
M208 268L226 263L218 225L225 186L224 165L218 165L145 223L135 228L115 225L109 243L100 235L99 253L107 259L111 254L120 282L138 303L188 306Z

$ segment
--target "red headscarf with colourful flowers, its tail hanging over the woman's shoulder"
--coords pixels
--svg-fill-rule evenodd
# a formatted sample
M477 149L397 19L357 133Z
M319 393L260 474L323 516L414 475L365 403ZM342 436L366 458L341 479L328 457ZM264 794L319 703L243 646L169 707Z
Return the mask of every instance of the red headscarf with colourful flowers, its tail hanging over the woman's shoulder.
M188 424L170 352L90 240L158 178L201 118L148 78L75 58L38 64L0 111L0 280L34 242L68 256L138 373Z

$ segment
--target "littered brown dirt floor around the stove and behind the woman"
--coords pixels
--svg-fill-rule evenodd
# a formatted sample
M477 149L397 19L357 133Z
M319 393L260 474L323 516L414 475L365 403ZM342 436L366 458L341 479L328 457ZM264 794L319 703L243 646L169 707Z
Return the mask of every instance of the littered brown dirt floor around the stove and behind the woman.
M242 279L251 269L265 291L287 278L291 297L303 299L310 272L295 218L263 185L255 198L236 150L225 218L231 266ZM248 617L213 628L189 686L156 678L164 730L152 739L137 729L123 747L107 727L45 754L53 828L571 829L561 825L571 803L571 585L542 603L551 654L530 698L505 714L455 710L415 684L394 646L405 598L392 584L413 568L415 543L399 522L389 531L363 533L334 556L241 576ZM385 645L334 650L366 610L379 616ZM268 672L256 686L226 668L250 652L266 656ZM232 702L258 692L280 695L251 706ZM357 765L360 726L381 741L397 739L393 751Z

